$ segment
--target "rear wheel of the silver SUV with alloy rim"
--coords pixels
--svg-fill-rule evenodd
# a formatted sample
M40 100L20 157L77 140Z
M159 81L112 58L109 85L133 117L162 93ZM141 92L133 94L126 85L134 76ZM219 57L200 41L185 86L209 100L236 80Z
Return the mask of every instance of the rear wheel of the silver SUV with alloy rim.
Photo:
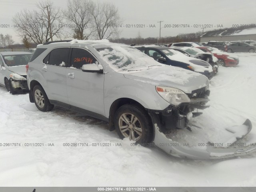
M36 107L40 111L44 111L44 112L50 111L54 107L53 104L50 104L50 101L49 101L44 89L39 85L36 85L33 88L33 98L34 98Z

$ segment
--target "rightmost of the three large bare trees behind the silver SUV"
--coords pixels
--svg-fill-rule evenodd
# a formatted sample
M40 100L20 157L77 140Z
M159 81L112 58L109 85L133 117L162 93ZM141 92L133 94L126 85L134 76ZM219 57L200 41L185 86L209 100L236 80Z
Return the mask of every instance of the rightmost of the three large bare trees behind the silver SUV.
M96 31L96 38L109 38L112 35L120 34L118 24L120 24L120 16L118 8L110 2L94 3L91 15Z

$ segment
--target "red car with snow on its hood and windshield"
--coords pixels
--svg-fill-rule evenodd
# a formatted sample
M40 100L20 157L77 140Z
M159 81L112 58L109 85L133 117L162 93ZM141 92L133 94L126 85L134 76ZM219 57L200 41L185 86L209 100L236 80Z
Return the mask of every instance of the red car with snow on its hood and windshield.
M197 47L197 48L204 52L210 52L214 54L214 56L218 58L218 65L229 67L229 66L236 66L239 63L238 57L223 54L223 52L221 52L216 48L212 48L212 47Z

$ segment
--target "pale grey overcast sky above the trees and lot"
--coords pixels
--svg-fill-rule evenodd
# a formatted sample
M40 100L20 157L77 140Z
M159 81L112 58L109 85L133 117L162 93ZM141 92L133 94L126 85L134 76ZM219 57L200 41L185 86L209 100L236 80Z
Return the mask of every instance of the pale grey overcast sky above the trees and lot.
M97 1L97 0L93 0ZM101 0L103 1L103 0ZM114 3L122 18L122 30L120 37L133 38L138 33L144 38L159 37L161 28L165 25L169 28L161 29L161 36L176 36L179 33L202 31L202 24L212 28L204 29L204 32L232 27L234 24L256 23L256 0L106 0ZM0 28L0 33L11 34L14 41L21 42L14 28L12 17L23 9L36 9L39 0L0 0L0 26L9 24L9 28ZM65 9L66 0L54 0L54 5ZM142 28L134 28L141 24ZM172 24L179 27L173 28ZM181 28L181 24L189 24L190 27ZM130 28L128 27L130 25ZM144 27L145 25L145 27ZM196 26L197 25L197 26ZM201 26L200 26L201 25ZM153 27L150 27L153 26ZM155 26L155 27L154 27ZM170 27L171 26L171 27Z

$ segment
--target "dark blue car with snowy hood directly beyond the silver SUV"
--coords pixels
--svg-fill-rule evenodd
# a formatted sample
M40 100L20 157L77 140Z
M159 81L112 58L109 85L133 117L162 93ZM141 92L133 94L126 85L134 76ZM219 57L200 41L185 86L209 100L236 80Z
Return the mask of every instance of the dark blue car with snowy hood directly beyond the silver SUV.
M205 75L208 79L213 76L212 66L197 58L190 58L168 47L134 46L154 60L171 66L181 67Z

